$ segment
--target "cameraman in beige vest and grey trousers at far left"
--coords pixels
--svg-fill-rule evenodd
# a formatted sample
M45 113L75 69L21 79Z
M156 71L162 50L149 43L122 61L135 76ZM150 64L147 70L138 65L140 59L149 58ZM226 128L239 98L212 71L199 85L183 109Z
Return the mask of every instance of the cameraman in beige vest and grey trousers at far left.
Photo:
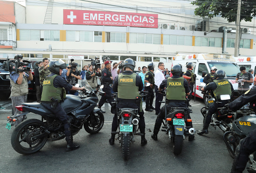
M17 58L17 56L14 57L14 59L17 59L19 62L22 61L21 58ZM19 106L22 103L27 102L28 98L28 80L33 80L33 75L31 73L31 69L29 71L29 74L27 74L24 71L23 67L18 67L18 71L15 72L12 71L10 73L10 83L12 85L11 87L11 100L12 100L12 106L14 115L19 113L17 109L15 109L15 106ZM23 116L20 116L17 118L17 121L14 122L15 126L17 126L20 122L23 121Z

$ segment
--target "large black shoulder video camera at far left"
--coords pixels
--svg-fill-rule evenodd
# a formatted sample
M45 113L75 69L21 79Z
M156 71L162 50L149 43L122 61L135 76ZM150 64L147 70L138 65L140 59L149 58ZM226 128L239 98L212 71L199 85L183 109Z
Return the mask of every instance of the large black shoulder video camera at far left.
M20 60L23 59L22 55L16 55L14 59L16 60L9 60L9 58L7 57L6 61L3 61L3 69L5 71L9 71L9 72L14 71L13 74L17 73L17 71L19 72L30 71L30 67L27 67L28 66L27 62L20 62ZM18 69L19 67L22 67L22 69Z

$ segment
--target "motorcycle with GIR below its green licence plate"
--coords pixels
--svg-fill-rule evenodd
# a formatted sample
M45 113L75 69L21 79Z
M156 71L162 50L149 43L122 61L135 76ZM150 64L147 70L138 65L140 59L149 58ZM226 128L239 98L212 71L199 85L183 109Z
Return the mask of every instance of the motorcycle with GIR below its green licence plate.
M166 91L159 92L163 96L166 97ZM165 100L167 100L165 98ZM188 140L190 136L195 134L196 130L191 127L186 127L185 122L192 122L191 119L188 118L189 109L187 107L172 107L169 112L167 112L167 102L159 101L160 103L165 103L165 122L162 121L163 126L162 131L169 134L169 139L174 143L173 145L173 153L175 155L179 155L182 151L183 140L185 136L188 136Z

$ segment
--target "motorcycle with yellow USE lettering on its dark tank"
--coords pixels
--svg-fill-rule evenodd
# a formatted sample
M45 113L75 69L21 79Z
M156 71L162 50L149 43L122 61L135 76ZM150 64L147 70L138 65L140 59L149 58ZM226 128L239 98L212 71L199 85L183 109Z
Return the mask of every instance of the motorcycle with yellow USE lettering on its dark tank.
M249 132L256 128L256 115L249 109L249 104L244 105L240 110L232 112L228 110L230 114L234 115L234 121L229 131L226 131L223 135L224 142L227 146L229 155L234 158L236 148L239 145L241 139L245 138ZM248 172L256 172L256 153L252 153L249 156L248 162L250 168L247 168Z

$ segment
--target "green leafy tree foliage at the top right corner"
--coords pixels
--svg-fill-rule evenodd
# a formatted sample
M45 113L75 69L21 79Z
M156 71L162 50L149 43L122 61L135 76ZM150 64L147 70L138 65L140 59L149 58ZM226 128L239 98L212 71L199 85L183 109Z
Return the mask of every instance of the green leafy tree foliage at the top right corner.
M198 7L195 9L195 15L201 17L221 16L228 22L236 21L237 18L237 0L196 0L191 2ZM242 0L240 21L252 21L256 16L255 0Z

